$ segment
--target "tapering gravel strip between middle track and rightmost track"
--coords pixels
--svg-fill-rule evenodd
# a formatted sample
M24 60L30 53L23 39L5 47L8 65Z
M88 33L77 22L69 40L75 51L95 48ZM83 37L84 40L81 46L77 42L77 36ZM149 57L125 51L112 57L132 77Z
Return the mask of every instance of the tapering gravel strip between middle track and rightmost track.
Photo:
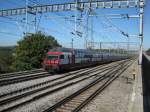
M88 79L86 81L80 82L76 85L73 85L71 87L67 87L61 91L55 92L51 95L42 97L38 99L37 101L33 101L31 103L28 103L24 106L21 106L15 110L12 110L12 112L41 112L42 110L47 109L48 107L54 105L56 102L60 101L64 97L67 97L68 95L74 93L75 91L81 89L83 86L89 84L91 81L93 81L93 78Z

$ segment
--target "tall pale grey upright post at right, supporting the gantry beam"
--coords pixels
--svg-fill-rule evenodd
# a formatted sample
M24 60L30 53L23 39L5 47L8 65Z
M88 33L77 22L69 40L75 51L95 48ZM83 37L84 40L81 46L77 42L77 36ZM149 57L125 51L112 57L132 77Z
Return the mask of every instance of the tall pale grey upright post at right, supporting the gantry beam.
M142 64L143 38L144 38L144 35L143 35L144 0L140 0L139 16L140 16L140 34L139 34L139 37L141 39L140 51L139 51L139 64Z

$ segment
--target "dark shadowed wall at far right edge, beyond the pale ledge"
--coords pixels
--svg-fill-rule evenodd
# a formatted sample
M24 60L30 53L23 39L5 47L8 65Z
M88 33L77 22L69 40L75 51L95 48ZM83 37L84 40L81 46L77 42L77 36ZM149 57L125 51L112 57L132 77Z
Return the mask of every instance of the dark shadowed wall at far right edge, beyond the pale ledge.
M142 80L144 112L150 112L150 57L146 54L143 54Z

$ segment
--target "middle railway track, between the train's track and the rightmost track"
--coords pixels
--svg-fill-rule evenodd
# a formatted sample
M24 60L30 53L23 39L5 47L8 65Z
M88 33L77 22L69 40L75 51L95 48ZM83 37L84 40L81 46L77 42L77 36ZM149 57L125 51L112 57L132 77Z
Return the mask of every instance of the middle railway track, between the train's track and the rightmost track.
M2 95L1 100L0 100L0 105L2 108L0 111L9 111L11 109L18 108L19 106L23 106L24 104L38 100L38 99L40 99L44 96L50 95L54 92L58 92L66 87L70 87L79 82L88 80L91 77L95 77L98 75L100 76L105 71L112 72L113 68L120 66L120 63L121 62L115 62L110 65L105 65L105 66L100 65L100 66L97 66L97 67L94 67L91 69L86 69L85 71L82 70L79 73L75 73L74 75L70 74L68 76L71 76L71 77L65 78L61 81L55 80L56 82L53 82L53 83L50 83L50 82L52 82L52 81L50 81L50 82L46 82L43 84L33 85L33 86L31 86L31 88L27 87L27 88L23 88L18 91L14 91L14 92ZM102 75L102 77L103 77L103 75ZM57 86L57 87L51 88L54 86ZM41 92L41 91L44 91L44 92ZM20 101L20 99L22 99L22 98L24 98L25 100ZM13 105L11 105L11 104L13 104ZM7 105L7 107L6 107L6 105Z

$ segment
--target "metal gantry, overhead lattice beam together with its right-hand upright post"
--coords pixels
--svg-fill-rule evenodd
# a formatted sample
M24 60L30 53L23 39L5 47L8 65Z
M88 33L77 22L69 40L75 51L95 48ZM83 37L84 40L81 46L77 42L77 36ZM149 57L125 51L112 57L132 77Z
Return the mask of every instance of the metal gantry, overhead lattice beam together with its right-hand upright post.
M4 9L0 10L0 17L4 16L15 16L26 14L26 23L27 14L37 14L37 13L46 13L46 12L59 12L59 11L73 11L73 10L88 10L90 9L100 9L100 8L116 8L116 9L125 9L125 8L139 8L139 15L135 15L131 18L139 18L140 21L140 32L137 37L140 37L141 44L139 50L139 64L142 63L142 50L143 50L143 16L144 16L144 5L145 0L89 0L83 2L82 0L76 0L77 2L68 2L62 4L48 4L48 5L36 5L29 6L28 0L26 0L26 7L23 8L14 8L14 9ZM26 26L27 30L27 26ZM122 33L123 34L123 33Z

